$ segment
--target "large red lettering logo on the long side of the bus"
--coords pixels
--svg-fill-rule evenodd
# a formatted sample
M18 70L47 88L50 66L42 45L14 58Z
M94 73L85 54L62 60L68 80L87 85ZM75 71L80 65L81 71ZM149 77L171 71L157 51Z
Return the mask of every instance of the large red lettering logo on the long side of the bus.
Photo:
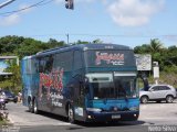
M39 96L42 98L42 88L46 89L48 99L51 97L50 90L54 88L59 94L63 89L63 68L58 70L52 70L50 74L40 73L40 89Z

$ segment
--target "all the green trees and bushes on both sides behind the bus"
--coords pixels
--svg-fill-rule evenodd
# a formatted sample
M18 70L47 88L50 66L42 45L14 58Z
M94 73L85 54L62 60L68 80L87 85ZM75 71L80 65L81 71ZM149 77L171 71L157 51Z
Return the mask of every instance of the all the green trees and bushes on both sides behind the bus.
M93 42L77 41L74 44L104 43L101 40ZM177 46L165 47L165 44L158 38L149 40L148 44L142 44L134 48L135 54L150 54L153 62L159 63L160 78L159 82L169 84L177 88ZM50 38L48 42L41 42L23 36L4 36L0 37L0 55L14 55L21 59L24 56L33 55L38 52L54 48L59 46L67 46L63 41ZM21 91L20 66L15 63L11 64L7 72L13 73L12 76L0 76L0 87L12 90L13 92ZM153 72L147 74L149 84L154 84Z

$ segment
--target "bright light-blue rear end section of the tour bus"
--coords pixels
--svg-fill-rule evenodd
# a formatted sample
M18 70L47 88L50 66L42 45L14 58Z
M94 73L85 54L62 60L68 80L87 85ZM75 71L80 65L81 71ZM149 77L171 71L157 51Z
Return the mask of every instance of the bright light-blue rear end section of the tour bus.
M38 92L39 75L37 73L38 62L34 56L25 56L21 61L22 77L22 102L23 106L32 110L32 99Z

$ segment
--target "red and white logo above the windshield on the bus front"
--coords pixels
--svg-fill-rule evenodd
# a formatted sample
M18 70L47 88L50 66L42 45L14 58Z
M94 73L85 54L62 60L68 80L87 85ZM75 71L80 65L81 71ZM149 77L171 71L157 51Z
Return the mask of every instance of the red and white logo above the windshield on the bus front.
M96 65L102 65L102 61L106 62L107 65L124 65L124 54L96 52Z

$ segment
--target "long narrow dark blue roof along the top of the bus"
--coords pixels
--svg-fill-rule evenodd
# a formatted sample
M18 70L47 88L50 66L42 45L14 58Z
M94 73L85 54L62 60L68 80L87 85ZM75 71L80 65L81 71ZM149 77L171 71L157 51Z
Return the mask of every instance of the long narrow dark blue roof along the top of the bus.
M52 54L54 52L65 52L71 50L81 50L81 51L87 51L87 50L131 50L129 46L125 45L118 45L118 44L79 44L79 45L71 45L71 46L62 46L62 47L55 47L51 50L46 50L43 52L37 53L37 56Z

